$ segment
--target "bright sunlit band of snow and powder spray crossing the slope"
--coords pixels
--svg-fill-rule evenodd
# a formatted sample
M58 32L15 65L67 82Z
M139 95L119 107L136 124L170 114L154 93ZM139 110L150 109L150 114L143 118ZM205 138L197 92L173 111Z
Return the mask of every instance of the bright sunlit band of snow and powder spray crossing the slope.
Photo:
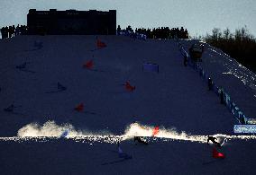
M133 139L134 136L142 136L148 142L153 142L155 140L160 140L161 142L169 142L173 140L179 141L189 141L205 144L207 143L207 136L195 136L189 135L185 131L178 133L175 128L166 129L165 127L160 127L159 132L152 136L153 129L155 127L141 125L139 123L133 123L126 127L124 134L121 136L113 135L109 131L100 131L97 133L89 132L86 130L76 130L70 124L57 125L54 121L48 121L42 126L31 123L18 130L17 136L13 137L0 137L0 141L36 141L36 142L47 142L51 139L59 139L63 132L68 131L68 136L65 139L71 139L76 142L82 143L108 143L116 144L118 142ZM216 134L215 137L218 141L231 139L256 139L256 136L228 136L222 134Z

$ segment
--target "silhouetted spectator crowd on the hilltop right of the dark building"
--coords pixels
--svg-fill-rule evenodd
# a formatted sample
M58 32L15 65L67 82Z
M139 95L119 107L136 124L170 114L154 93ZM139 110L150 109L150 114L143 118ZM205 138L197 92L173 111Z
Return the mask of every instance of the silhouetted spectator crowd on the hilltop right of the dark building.
M120 25L117 28L117 34L119 35L121 32L130 32L130 33L140 33L146 35L148 39L188 39L187 29L184 30L183 27L180 29L169 27L159 27L151 29L139 28L133 31L132 27L129 25L125 30L121 30Z

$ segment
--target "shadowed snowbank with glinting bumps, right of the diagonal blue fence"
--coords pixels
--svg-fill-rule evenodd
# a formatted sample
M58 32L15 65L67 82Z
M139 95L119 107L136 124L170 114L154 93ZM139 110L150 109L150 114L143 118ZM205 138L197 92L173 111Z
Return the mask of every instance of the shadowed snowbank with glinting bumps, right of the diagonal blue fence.
M184 42L187 50L194 42L195 40ZM224 90L231 95L232 101L242 109L246 116L255 118L256 74L220 49L206 43L204 45L206 46L202 57L204 61L199 65L213 77L215 83L224 87Z

